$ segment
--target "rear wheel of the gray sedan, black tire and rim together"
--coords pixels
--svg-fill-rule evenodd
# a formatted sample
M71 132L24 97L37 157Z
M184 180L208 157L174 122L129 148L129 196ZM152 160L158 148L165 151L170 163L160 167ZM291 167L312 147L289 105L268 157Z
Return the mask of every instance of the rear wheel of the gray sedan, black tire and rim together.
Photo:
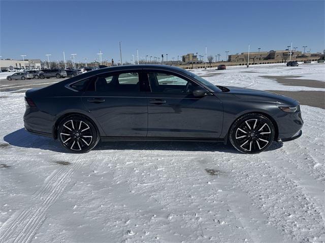
M95 125L82 115L64 117L59 123L57 138L72 153L89 152L100 141Z

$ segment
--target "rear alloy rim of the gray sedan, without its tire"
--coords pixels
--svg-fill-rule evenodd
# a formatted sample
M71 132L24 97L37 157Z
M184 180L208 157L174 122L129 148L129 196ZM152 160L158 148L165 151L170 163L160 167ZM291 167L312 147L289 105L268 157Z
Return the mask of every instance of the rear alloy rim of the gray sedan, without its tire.
M68 120L60 131L62 144L68 149L86 150L93 140L92 129L82 120Z

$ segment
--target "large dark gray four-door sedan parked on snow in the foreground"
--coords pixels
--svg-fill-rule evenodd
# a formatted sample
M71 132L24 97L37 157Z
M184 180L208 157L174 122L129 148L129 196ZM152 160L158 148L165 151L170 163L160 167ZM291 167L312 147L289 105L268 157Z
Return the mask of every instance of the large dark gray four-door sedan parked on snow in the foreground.
M24 126L71 152L102 141L230 141L243 153L302 134L299 102L163 65L102 68L26 92Z

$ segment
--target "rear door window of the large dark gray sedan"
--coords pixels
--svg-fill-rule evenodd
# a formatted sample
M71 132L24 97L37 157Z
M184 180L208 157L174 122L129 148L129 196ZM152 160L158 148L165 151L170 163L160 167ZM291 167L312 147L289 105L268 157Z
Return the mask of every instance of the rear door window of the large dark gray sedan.
M99 92L140 92L139 74L133 72L99 76L95 80L95 90Z

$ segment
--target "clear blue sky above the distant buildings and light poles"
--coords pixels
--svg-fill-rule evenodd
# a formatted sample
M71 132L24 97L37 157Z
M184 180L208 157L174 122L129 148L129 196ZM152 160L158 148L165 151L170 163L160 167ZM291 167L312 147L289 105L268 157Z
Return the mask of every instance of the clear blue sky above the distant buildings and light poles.
M324 1L0 1L2 58L324 49ZM307 51L307 50L306 50ZM166 59L165 59L166 60Z

